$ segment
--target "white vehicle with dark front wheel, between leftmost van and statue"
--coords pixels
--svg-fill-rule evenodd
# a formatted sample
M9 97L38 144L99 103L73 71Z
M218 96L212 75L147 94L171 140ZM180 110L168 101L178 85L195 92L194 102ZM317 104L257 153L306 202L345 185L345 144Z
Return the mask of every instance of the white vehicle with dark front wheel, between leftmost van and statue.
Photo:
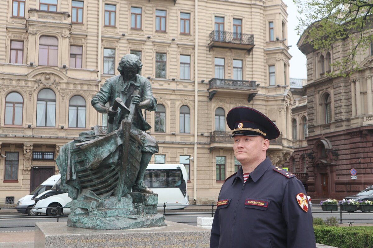
M66 204L71 202L68 193L60 189L61 179L35 200L35 206L32 209L35 213L45 213L48 216L56 216L70 213L70 208L65 208Z

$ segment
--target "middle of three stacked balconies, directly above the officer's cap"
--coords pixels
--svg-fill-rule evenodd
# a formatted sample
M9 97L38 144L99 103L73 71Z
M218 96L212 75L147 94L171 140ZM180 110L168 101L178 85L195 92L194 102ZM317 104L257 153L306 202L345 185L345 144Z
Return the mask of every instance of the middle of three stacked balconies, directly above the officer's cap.
M210 101L218 91L221 91L223 94L248 94L248 102L250 102L258 92L256 89L256 81L211 78L209 80Z

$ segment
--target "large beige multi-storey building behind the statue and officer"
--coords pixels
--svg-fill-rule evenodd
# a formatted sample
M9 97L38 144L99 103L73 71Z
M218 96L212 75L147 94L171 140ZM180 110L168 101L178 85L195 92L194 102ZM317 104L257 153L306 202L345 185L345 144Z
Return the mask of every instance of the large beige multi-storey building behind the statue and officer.
M157 111L153 163L183 163L191 203L215 202L239 167L227 112L254 107L281 135L269 156L292 154L286 5L281 0L0 0L0 204L51 174L59 148L106 126L91 98L140 57Z

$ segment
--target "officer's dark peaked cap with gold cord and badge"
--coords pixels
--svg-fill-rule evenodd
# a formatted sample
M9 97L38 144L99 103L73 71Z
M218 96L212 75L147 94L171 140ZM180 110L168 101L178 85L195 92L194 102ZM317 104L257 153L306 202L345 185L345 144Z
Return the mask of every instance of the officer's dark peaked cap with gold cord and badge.
M263 136L266 139L276 139L280 135L275 123L251 107L234 107L227 114L227 124L235 135Z

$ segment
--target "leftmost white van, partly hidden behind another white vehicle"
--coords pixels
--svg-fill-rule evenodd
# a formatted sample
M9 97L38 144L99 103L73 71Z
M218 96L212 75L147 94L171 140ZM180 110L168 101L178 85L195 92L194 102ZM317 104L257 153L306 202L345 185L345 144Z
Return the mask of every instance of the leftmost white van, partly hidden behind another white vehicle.
M17 211L18 213L27 213L29 216L36 216L39 213L35 213L31 208L35 204L34 198L43 193L46 190L50 190L54 184L61 178L61 174L52 175L50 178L41 183L36 189L34 189L30 194L21 197L17 202Z

